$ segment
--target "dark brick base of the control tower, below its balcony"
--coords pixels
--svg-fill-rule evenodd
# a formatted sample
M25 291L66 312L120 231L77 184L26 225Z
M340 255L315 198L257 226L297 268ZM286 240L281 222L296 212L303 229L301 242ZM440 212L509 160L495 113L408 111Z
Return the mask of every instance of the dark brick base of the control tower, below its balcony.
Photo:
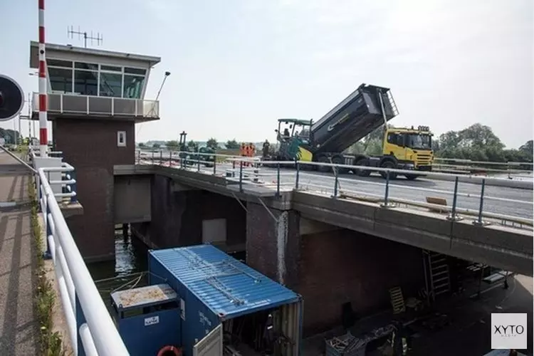
M126 147L117 147L117 131L126 132ZM84 214L68 226L87 261L115 256L113 224L113 166L134 164L134 123L115 120L56 119L55 149L76 169L78 200Z

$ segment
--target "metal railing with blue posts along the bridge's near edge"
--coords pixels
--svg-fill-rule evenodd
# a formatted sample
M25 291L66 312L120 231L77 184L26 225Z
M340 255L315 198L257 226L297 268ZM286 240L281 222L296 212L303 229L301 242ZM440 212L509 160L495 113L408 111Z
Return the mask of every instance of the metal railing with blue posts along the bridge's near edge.
M192 157L192 158L191 158ZM212 159L205 160L201 157L212 157ZM459 177L465 178L464 174L447 174L447 173L438 173L438 172L417 172L417 171L405 171L402 169L384 169L384 168L370 168L370 167L360 167L360 166L351 166L346 164L328 164L328 163L318 163L318 162L274 162L274 161L259 161L258 159L253 159L250 157L239 157L232 155L216 155L210 153L200 153L200 152L177 152L177 151L150 151L142 152L137 151L137 162L140 164L163 164L171 167L176 167L178 169L194 169L197 172L204 172L208 174L219 174L221 176L226 176L226 179L229 182L234 182L239 184L239 188L242 191L244 184L258 184L261 187L267 187L276 190L276 195L280 195L281 192L293 191L293 189L306 190L306 191L315 191L318 193L328 194L333 199L340 197L355 198L360 200L373 200L381 203L381 206L384 208L394 207L395 204L402 204L417 208L431 209L433 211L445 211L447 214L447 219L449 220L461 220L464 219L464 216L473 216L473 224L486 225L488 224L488 219L498 220L501 224L511 223L513 225L518 224L520 226L533 226L533 219L527 219L522 216L511 216L507 214L496 214L489 211L484 211L484 203L487 201L495 201L496 203L513 203L523 206L532 206L533 202L528 200L519 200L519 199L508 199L504 197L493 197L486 193L486 185L492 180L503 181L500 178L491 178L486 177L476 177L481 179L480 193L471 194L459 192ZM231 164L231 165L230 165ZM317 180L317 174L310 174L306 169L310 166L328 166L333 169L333 184L327 186L324 184L318 184L312 182L312 178ZM207 167L206 167L207 166ZM263 172L259 167L273 167L274 169L268 168L271 172ZM283 167L293 166L295 172L288 172L283 169ZM204 169L206 167L206 169ZM369 180L355 180L350 178L341 177L340 174L337 174L338 169L351 169L351 170L369 170L377 172L384 172L386 175L385 182L370 182ZM217 170L219 169L219 171ZM223 169L223 172L221 172ZM417 174L426 177L453 177L451 179L454 182L454 191L448 192L441 189L431 189L425 187L416 187L414 185L400 185L392 183L393 177L396 174ZM262 180L262 178L271 177L271 182ZM290 179L287 179L290 177ZM308 177L309 182L303 182L303 180ZM358 191L354 189L341 189L340 184L342 182L350 182L358 184L369 184L375 186L384 187L383 194L370 194L364 191ZM408 189L412 191L419 192L430 192L438 194L451 194L453 196L452 204L434 204L430 202L415 201L412 199L402 199L399 197L394 197L390 190L395 189ZM466 209L459 206L459 197L471 198L478 200L478 209Z

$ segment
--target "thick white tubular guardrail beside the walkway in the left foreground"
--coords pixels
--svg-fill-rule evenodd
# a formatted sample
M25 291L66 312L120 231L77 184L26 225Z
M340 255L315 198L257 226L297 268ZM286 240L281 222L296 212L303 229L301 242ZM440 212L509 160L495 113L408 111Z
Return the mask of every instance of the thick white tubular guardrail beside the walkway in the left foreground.
M31 157L36 157L34 152ZM44 254L53 261L73 354L129 355L58 205L58 197L76 201L74 168L63 163L62 167L41 168L37 172L38 201L46 229ZM65 179L51 181L51 172L65 173ZM55 194L51 187L55 184L70 189ZM78 350L78 345L83 350Z

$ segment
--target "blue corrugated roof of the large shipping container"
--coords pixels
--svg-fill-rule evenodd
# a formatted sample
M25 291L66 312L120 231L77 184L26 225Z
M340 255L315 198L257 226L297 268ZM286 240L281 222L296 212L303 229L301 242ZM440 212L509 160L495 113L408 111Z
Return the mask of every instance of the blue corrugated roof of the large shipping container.
M293 303L300 295L211 245L150 251L221 319Z

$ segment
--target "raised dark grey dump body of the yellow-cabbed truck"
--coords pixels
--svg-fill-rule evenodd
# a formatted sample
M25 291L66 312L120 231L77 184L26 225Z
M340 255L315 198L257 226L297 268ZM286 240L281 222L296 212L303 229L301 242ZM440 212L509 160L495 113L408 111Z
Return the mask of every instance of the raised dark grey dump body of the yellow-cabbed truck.
M362 84L312 126L315 154L342 152L362 140L386 121L397 116L397 107L389 88Z

